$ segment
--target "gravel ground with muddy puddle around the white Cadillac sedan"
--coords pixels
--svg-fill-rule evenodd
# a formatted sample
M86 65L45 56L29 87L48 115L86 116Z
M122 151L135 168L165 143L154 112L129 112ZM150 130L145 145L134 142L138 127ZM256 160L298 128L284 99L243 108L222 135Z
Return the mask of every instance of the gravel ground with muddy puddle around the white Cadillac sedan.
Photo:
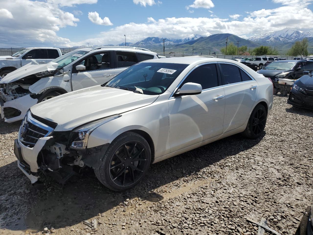
M247 217L294 234L313 202L313 111L286 97L274 97L257 140L235 135L156 163L119 193L92 172L34 189L13 154L19 125L0 121L0 234L257 234Z

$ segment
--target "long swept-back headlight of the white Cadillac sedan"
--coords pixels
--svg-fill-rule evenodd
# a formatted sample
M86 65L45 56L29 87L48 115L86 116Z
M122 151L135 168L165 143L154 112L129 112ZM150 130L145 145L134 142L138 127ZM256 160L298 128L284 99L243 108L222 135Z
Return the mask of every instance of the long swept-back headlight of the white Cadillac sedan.
M113 115L107 118L102 118L100 120L87 123L80 128L77 128L73 131L73 137L71 138L73 141L71 143L71 147L75 149L85 149L87 147L88 138L90 133L95 130L95 128L100 127L102 124L110 122L116 118L121 117L122 115Z

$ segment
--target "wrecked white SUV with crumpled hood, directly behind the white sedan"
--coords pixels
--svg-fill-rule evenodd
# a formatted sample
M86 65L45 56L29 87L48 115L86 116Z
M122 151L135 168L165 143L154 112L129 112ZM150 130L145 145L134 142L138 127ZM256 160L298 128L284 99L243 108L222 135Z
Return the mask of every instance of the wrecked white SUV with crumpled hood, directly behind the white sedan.
M131 65L157 59L142 48L104 46L71 51L47 63L32 61L0 80L1 116L22 120L34 104L109 81Z

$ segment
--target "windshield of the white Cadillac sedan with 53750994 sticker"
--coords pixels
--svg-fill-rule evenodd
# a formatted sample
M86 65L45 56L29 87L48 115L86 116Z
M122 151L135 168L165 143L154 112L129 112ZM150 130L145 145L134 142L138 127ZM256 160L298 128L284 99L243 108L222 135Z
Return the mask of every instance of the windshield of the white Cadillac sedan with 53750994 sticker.
M145 95L162 94L187 67L174 63L139 63L112 78L105 86Z

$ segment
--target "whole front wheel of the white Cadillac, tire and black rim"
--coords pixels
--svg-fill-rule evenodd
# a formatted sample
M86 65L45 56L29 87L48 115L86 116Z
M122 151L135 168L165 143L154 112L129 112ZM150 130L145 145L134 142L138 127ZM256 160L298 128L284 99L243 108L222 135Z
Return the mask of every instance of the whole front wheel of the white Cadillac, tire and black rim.
M151 150L146 139L126 132L110 144L95 175L110 190L124 191L145 177L150 162Z

